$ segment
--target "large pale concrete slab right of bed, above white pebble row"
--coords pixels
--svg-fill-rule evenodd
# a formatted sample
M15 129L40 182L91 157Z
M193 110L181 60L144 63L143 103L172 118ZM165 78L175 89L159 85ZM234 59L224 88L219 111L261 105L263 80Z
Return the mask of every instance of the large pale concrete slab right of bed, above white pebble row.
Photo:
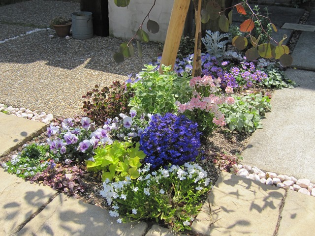
M315 72L288 69L299 87L276 90L272 110L243 151L243 163L315 182Z

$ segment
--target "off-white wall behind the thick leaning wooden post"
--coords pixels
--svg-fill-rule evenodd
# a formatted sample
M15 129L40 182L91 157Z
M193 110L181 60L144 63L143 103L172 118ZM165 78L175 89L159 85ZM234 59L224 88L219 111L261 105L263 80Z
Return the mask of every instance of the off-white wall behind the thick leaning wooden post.
M150 33L146 27L148 18L143 24L150 37L150 41L164 42L166 38L167 27L173 8L173 0L157 0L149 17L150 20L159 24L158 33ZM109 33L115 37L130 39L139 28L144 17L148 14L154 0L130 0L128 7L118 7L114 0L108 1L109 10Z

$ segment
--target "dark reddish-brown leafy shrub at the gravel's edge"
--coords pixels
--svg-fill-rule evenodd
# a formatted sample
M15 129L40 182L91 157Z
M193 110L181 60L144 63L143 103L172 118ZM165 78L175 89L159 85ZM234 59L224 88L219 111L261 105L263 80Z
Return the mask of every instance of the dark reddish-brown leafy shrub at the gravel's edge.
M83 111L96 125L102 126L107 118L118 117L120 113L128 114L130 108L128 100L133 96L129 85L114 81L110 87L99 88L88 91L83 102Z

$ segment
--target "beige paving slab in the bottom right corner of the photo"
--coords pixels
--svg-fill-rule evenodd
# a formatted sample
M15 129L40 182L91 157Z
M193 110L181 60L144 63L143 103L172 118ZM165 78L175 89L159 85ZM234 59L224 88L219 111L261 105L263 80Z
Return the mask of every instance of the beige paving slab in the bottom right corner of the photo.
M314 235L315 198L288 191L278 236Z

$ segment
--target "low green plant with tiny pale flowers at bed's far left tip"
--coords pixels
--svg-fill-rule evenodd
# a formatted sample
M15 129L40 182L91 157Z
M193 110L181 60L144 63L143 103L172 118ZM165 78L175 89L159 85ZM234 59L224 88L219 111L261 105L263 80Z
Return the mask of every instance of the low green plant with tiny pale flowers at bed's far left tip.
M13 155L12 159L2 163L2 167L8 173L16 174L18 177L31 178L36 173L46 169L48 162L49 145L31 144L26 145L21 153Z

